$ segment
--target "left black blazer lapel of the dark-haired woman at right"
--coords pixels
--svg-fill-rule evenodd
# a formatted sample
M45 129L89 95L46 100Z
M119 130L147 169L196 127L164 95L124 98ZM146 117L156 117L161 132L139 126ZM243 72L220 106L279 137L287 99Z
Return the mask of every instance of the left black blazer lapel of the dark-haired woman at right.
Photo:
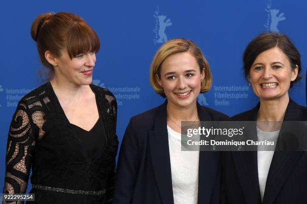
M256 121L259 105L260 103L251 109L245 118L241 118L242 121ZM251 134L253 134L252 136L257 135L256 126L252 129ZM261 203L257 151L233 151L232 155L246 203Z

